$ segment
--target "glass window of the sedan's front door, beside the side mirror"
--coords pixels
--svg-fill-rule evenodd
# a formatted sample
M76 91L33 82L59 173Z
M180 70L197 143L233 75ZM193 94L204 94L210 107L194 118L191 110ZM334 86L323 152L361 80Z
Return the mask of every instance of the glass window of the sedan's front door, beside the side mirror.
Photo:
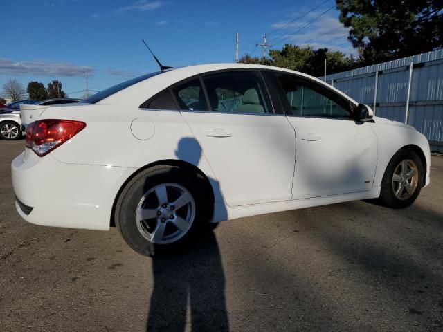
M276 75L293 116L351 118L349 104L332 91L294 75Z

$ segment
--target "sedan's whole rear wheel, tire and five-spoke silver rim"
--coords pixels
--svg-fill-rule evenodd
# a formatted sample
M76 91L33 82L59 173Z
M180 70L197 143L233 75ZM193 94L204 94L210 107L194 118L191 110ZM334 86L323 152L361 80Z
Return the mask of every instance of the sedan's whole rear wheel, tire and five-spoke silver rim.
M179 167L145 169L125 186L116 204L116 226L141 255L174 250L208 221L210 202L201 178Z

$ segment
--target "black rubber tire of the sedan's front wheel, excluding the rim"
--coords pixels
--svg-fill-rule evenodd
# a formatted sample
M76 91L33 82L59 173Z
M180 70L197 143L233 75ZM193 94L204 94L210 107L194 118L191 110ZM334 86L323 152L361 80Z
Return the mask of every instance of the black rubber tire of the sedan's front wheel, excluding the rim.
M394 172L403 160L412 160L415 165L417 165L418 179L415 190L407 199L397 198L394 190L394 185L392 183L392 177ZM422 185L424 181L424 166L422 160L418 156L417 152L410 149L401 149L390 160L388 167L386 167L385 174L383 175L383 180L381 181L381 192L379 196L379 203L388 208L407 208L417 199L420 191L422 190Z

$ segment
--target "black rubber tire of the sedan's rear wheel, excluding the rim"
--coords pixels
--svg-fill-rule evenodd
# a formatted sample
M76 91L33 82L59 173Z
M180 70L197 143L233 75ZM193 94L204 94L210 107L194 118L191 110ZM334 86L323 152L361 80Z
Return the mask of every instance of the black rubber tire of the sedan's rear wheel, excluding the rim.
M177 239L177 241L167 244L152 243L149 241L149 239L145 237L147 230L145 236L143 236L143 230L140 230L140 223L136 221L136 211L138 206L140 206L141 199L145 194L150 192L150 190L162 184L176 184L185 188L192 196L193 203L195 203L194 219L189 230ZM200 231L206 228L204 227L205 225L208 225L208 220L210 219L210 216L208 216L208 208L211 202L208 201L209 195L204 192L203 188L204 185L201 176L186 172L179 167L160 165L145 169L134 176L121 192L114 213L116 227L126 243L141 255L154 256L176 252L189 241L197 241L196 235L203 235ZM171 196L170 194L168 195ZM150 196L145 198L146 201L149 199ZM157 202L155 204L161 203ZM178 214L179 210L176 212ZM150 219L150 222L157 225L157 223L160 222L158 221L159 218L160 216L157 217L157 219ZM148 221L142 221L141 223L147 225ZM168 223L168 220L165 221L165 227L168 227ZM148 226L146 227L149 228ZM172 227L174 227L174 224ZM177 228L177 231L180 232L179 228ZM149 236L149 234L147 236Z

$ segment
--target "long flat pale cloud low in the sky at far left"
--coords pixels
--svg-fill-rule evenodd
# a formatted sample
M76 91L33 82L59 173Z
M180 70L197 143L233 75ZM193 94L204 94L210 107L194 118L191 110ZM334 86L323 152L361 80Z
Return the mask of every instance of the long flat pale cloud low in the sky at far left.
M64 62L14 61L0 58L0 73L6 75L39 75L51 77L84 77L93 68Z

